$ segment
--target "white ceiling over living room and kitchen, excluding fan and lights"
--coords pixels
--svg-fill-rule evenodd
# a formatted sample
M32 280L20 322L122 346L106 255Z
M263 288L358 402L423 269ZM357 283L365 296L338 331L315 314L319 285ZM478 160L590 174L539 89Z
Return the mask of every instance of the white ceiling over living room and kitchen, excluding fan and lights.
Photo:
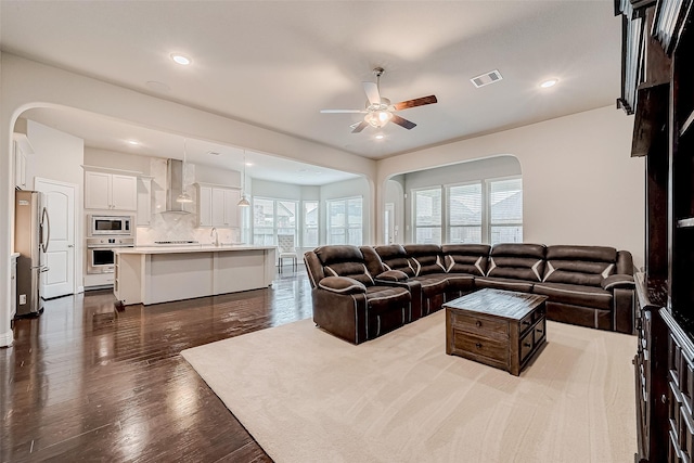
M0 21L3 52L374 159L611 105L620 91L621 28L612 0L2 0ZM174 52L193 63L175 64ZM376 66L386 69L381 93L393 102L438 98L400 112L417 126L389 124L383 140L372 128L351 133L359 114L319 113L362 108L361 81L373 81ZM503 80L480 89L470 82L492 69ZM550 77L560 83L541 90ZM182 152L180 137L78 112L33 112L87 146L137 152L124 140L138 139L142 154ZM191 160L220 151L221 165L240 149L192 146L201 159ZM301 172L297 183L339 178L293 169L323 171Z

